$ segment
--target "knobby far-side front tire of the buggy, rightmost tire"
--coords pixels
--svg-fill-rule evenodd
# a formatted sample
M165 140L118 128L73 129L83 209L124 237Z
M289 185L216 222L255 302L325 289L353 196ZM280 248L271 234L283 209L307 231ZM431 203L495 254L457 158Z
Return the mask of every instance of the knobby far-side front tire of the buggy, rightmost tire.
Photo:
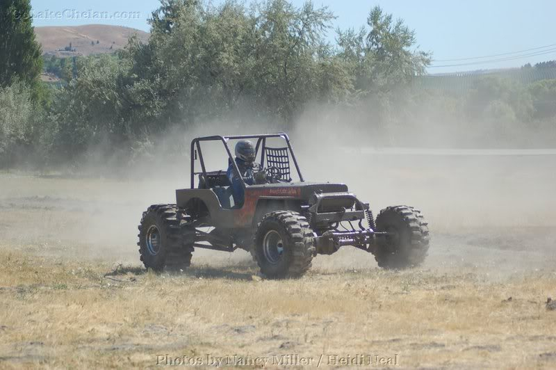
M383 268L420 266L429 250L429 227L418 209L407 206L388 207L377 216L377 232L393 232L378 236L375 259Z

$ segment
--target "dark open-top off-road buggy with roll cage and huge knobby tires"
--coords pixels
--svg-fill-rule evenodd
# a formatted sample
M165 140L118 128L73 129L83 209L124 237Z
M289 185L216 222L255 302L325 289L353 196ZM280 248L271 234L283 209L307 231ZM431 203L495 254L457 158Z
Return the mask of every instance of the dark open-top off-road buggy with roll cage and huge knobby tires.
M236 205L226 170L206 170L202 144L220 141L238 175L229 143L240 139L256 140L264 181L248 186L242 179L245 201ZM303 275L313 257L343 246L373 253L384 268L418 266L427 255L429 230L418 209L388 207L375 220L344 184L304 182L286 134L195 138L190 176L190 188L176 191L177 204L142 215L140 258L154 271L186 268L195 248L247 250L268 278Z

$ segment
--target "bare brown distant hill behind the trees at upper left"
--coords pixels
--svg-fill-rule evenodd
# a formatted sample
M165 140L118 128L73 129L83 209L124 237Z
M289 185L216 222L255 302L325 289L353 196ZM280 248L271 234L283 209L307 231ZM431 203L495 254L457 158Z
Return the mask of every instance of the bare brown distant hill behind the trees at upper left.
M56 56L89 56L91 54L111 53L122 49L128 38L136 34L146 42L149 33L138 29L105 24L87 24L85 26L47 26L35 27L37 40L42 45L44 54ZM72 49L69 49L70 42Z

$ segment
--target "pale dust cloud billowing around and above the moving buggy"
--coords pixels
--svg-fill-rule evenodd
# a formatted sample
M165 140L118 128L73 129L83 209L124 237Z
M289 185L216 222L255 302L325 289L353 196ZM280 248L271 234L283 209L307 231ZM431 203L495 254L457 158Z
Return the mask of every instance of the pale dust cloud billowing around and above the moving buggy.
M432 234L424 268L511 272L554 266L556 151L500 150L498 144L485 145L486 138L474 149L467 138L461 149L458 138L465 128L448 132L437 129L441 124L371 127L373 116L315 106L295 129L262 127L256 120L174 129L158 140L156 150L124 165L106 160L106 154L91 155L81 168L83 177L3 175L3 243L45 255L139 264L142 211L173 203L175 189L189 186L192 138L287 131L306 181L343 182L370 202L375 215L389 205L421 209ZM227 168L221 145L207 147L204 156L208 170ZM231 255L196 250L193 263L248 264L250 256L241 250ZM376 268L371 255L352 248L319 256L313 266Z

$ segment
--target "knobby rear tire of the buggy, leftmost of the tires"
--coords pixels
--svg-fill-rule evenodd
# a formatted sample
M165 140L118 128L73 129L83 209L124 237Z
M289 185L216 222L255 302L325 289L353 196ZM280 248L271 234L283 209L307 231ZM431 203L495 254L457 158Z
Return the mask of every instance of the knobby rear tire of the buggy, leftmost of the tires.
M178 219L178 213L174 204L153 205L143 212L137 244L146 268L159 272L190 266L195 228L188 225L187 218Z

